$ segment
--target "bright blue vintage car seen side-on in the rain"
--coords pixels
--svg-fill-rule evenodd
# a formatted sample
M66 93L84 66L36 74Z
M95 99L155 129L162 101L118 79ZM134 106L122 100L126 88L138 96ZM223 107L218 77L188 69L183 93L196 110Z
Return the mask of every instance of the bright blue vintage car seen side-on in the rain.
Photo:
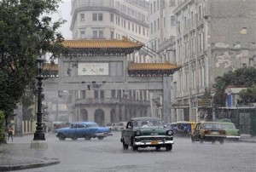
M97 123L93 122L76 122L71 123L68 128L56 129L56 137L59 140L65 140L71 138L77 140L78 138L84 138L90 140L91 138L98 138L102 140L104 137L113 135L108 127L100 127Z

